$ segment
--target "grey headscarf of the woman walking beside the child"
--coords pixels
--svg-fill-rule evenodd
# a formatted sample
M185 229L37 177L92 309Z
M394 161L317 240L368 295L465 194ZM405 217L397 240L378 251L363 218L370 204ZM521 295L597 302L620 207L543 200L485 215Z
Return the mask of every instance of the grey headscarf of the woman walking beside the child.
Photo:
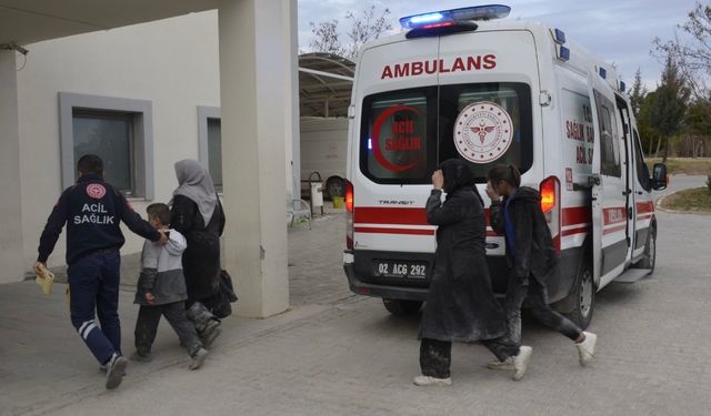
M198 204L204 225L208 226L218 206L218 195L210 173L197 160L183 159L176 162L176 176L179 186L173 191L173 196L183 195Z

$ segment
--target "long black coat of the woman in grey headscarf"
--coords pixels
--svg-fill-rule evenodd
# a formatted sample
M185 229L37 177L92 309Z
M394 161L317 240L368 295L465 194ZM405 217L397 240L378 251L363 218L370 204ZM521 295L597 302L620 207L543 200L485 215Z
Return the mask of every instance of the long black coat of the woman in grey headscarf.
M220 288L220 235L224 230L224 212L219 200L206 225L198 204L184 195L176 195L170 225L188 240L188 248L182 254L188 301L214 296Z

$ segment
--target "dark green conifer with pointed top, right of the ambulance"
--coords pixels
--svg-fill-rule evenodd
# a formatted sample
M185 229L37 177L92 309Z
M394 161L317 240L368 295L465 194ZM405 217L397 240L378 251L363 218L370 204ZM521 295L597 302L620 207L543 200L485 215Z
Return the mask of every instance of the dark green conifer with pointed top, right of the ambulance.
M663 162L667 162L669 138L679 132L689 101L689 90L671 55L667 57L661 83L654 95L653 104L649 109L649 120L664 141Z

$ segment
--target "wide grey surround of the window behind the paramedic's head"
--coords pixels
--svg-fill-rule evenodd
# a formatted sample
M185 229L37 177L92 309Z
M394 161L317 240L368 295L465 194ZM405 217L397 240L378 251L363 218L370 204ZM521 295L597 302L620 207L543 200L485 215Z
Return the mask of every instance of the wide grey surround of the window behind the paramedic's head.
M149 100L59 92L59 125L61 142L62 189L77 181L77 161L74 160L74 112L86 114L130 114L132 120L131 199L152 200L153 180L153 110Z

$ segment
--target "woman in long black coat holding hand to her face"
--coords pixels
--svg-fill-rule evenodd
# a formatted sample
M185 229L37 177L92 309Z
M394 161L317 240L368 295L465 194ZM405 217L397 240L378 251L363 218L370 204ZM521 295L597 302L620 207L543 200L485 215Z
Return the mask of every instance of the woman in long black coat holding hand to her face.
M483 204L470 169L461 160L444 161L432 175L432 186L427 221L438 225L437 251L420 324L422 375L413 381L418 386L452 383L453 341L494 339L505 332L487 265Z

